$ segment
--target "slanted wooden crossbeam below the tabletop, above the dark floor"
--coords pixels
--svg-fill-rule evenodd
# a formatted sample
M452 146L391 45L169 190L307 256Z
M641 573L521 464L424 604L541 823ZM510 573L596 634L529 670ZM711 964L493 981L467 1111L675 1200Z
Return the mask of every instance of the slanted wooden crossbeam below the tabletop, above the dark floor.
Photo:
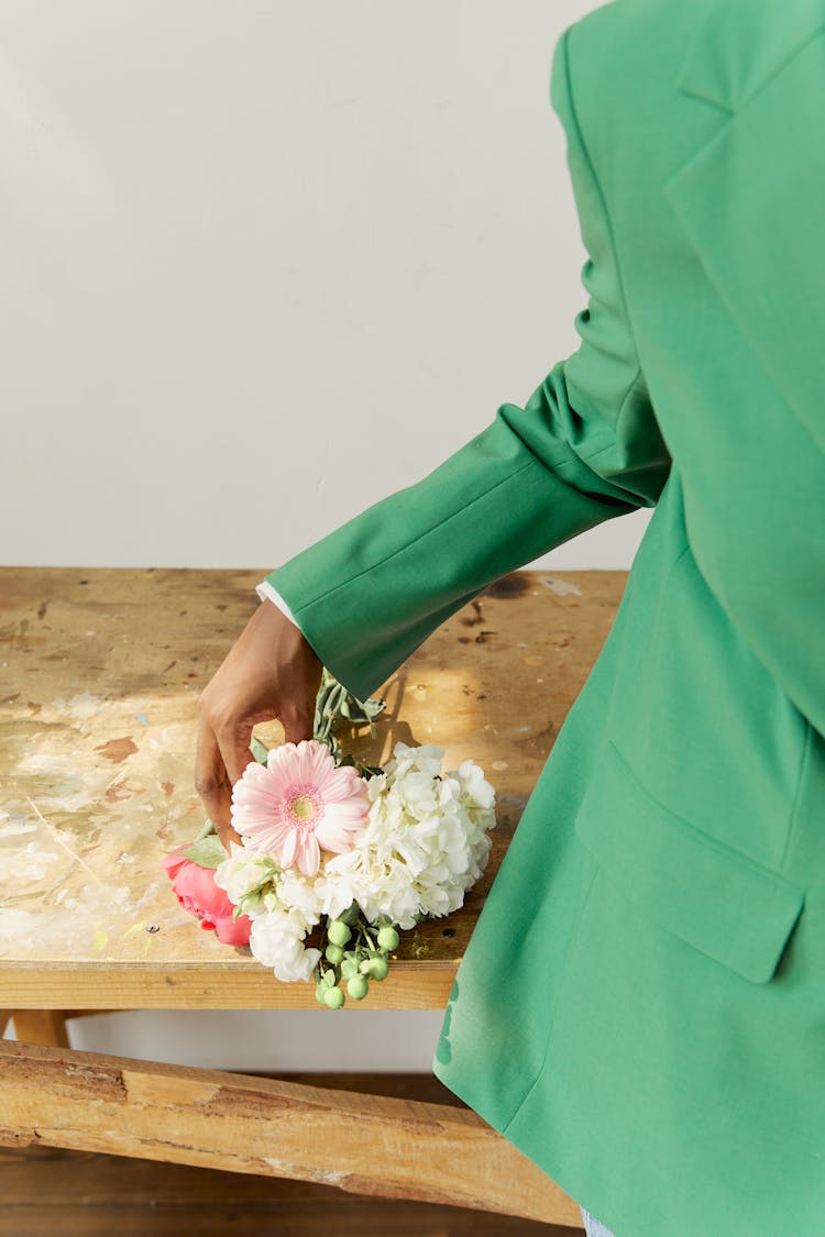
M0 1042L0 1144L109 1152L580 1225L466 1107Z

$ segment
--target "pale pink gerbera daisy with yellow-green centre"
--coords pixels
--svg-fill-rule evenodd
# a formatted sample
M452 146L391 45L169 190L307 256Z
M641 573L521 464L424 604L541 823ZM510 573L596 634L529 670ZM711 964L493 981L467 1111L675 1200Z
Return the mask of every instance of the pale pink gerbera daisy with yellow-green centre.
M281 867L315 876L322 847L350 850L370 808L366 782L351 764L335 764L325 743L302 738L252 761L233 787L233 825L244 845Z

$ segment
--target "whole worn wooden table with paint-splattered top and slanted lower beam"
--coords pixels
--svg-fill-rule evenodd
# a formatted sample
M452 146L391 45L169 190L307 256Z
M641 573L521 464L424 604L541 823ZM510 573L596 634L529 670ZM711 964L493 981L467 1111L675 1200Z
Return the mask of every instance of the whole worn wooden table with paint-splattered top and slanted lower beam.
M344 751L472 757L498 823L465 907L402 934L364 1004L320 1008L199 930L158 862L193 837L198 693L257 606L260 571L0 569L0 1143L325 1181L579 1227L578 1205L466 1107L82 1053L64 1019L120 1009L443 1008L522 809L616 614L627 571L516 571L378 689ZM538 690L537 690L538 688ZM0 1014L0 1030L2 1029ZM330 1029L333 1023L330 1022ZM341 1123L357 1118L359 1138ZM377 1149L382 1150L377 1150Z

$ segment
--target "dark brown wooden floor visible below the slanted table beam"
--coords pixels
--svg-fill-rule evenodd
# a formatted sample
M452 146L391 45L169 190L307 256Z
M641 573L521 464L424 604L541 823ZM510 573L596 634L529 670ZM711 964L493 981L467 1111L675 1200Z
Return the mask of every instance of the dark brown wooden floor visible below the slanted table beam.
M581 1228L51 1147L0 1148L0 1237L575 1237Z

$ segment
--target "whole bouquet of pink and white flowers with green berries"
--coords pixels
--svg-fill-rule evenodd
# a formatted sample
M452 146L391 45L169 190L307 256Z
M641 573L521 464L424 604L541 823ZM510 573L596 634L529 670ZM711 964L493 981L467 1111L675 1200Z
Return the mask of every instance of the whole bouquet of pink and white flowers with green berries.
M278 980L314 978L317 999L333 1009L386 978L400 931L463 905L496 823L482 769L468 760L445 772L435 743L397 742L383 767L341 755L340 719L374 732L382 708L324 668L314 737L268 751L252 740L255 760L231 798L242 845L230 842L228 855L208 821L162 865L203 928L249 944ZM309 933L319 939L307 948Z

